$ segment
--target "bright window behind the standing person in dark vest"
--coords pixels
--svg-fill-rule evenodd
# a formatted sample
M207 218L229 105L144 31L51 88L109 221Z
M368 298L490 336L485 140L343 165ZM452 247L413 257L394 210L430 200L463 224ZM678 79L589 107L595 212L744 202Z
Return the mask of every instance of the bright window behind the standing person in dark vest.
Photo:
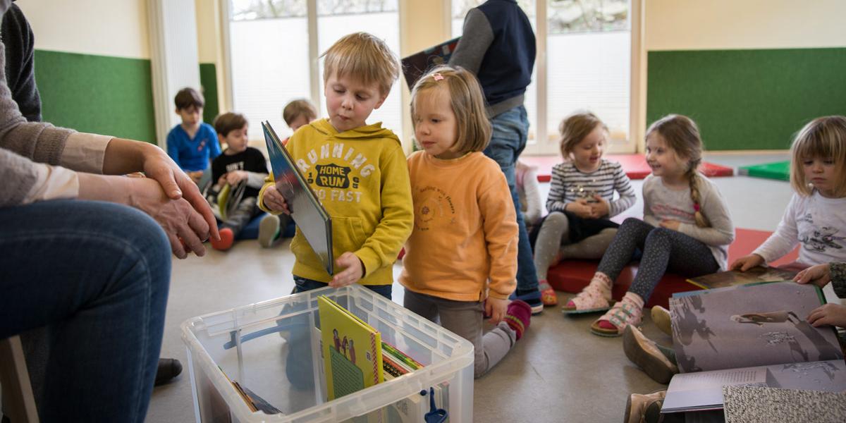
M584 110L608 125L613 151L634 151L628 140L630 1L537 1L518 0L538 36L539 59L526 89L530 120L526 154L557 154L558 124ZM453 36L461 34L467 10L483 2L453 0ZM541 33L546 34L544 39Z

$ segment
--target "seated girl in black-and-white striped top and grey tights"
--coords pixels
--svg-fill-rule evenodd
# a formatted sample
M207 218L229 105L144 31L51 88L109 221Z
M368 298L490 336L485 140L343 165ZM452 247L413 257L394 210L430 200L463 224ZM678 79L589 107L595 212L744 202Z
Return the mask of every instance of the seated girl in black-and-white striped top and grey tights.
M567 258L601 258L619 227L608 219L636 200L620 163L602 158L608 129L595 114L574 114L564 119L558 130L564 162L552 167L549 216L541 224L535 243L543 305L558 304L547 282L549 266ZM619 195L616 201L614 191Z

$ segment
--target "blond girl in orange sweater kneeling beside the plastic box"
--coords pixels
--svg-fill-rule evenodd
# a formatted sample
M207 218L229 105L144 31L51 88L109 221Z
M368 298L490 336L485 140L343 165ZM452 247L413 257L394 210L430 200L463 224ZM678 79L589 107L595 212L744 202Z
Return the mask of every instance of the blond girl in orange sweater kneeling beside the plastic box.
M530 323L530 305L508 300L517 286L511 193L497 162L481 153L491 124L473 74L433 69L415 84L411 113L423 151L409 157L415 228L399 277L404 306L473 343L479 377ZM497 326L483 336L484 315Z

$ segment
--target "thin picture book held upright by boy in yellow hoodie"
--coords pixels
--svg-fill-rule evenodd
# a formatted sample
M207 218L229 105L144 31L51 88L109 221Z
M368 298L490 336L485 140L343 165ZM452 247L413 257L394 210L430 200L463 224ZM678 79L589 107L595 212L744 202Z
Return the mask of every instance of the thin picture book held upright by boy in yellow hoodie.
M282 140L279 140L270 122L262 122L261 129L264 131L276 189L288 203L291 218L309 242L311 250L321 258L326 271L332 275L335 263L332 257L332 217L305 182L303 174L294 165L294 159L282 145Z

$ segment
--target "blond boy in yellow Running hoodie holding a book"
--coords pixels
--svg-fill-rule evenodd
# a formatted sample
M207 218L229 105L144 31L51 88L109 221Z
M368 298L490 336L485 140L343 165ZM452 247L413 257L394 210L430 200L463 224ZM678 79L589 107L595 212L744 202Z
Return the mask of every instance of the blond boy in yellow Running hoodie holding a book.
M296 291L359 282L390 299L391 265L414 222L409 170L397 135L365 120L385 102L399 63L384 41L364 32L344 36L323 56L329 117L299 128L286 148L332 216L332 250L342 270L328 274L297 228L291 241ZM287 213L270 179L259 205Z

